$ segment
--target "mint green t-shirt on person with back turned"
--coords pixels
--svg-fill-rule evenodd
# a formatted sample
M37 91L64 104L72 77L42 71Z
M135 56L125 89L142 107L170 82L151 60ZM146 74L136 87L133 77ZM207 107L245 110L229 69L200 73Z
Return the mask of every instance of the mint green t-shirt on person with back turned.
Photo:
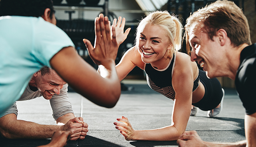
M42 17L0 17L0 115L19 99L33 73L74 44Z

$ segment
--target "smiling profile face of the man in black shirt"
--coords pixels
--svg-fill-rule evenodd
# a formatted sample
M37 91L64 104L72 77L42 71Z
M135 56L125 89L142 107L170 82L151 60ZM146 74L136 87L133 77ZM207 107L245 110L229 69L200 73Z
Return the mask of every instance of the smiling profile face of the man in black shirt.
M191 61L198 61L209 78L219 77L223 53L218 37L213 36L212 40L209 39L207 32L200 23L191 25L188 35L189 44L192 47Z

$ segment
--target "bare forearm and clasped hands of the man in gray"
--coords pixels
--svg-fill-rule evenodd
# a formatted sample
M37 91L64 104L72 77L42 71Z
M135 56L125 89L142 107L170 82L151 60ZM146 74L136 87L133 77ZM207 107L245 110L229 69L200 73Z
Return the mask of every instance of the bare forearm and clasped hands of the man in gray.
M55 131L71 131L70 140L77 140L80 138L82 131L88 131L83 126L85 124L79 118L71 119L63 126L40 125L33 122L17 120L15 114L8 114L0 118L0 132L3 137L9 139L45 139L51 138Z

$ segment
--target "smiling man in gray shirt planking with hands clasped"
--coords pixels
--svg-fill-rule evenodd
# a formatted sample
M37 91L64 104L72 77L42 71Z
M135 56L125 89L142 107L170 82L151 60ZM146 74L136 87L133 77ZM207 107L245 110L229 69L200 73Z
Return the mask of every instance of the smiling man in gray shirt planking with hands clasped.
M71 131L70 140L84 139L88 125L83 118L74 116L68 98L68 84L51 68L44 66L34 73L25 91L18 101L34 99L43 96L50 100L52 116L57 125L40 125L33 122L17 120L16 102L0 116L1 136L10 139L51 138L55 131ZM63 124L63 125L61 125Z

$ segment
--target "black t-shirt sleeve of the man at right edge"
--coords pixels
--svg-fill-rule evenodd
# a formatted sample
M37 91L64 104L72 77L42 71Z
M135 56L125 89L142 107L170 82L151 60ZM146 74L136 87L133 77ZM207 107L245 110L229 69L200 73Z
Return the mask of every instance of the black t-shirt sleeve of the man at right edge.
M256 58L250 58L239 68L236 88L246 114L256 113Z

